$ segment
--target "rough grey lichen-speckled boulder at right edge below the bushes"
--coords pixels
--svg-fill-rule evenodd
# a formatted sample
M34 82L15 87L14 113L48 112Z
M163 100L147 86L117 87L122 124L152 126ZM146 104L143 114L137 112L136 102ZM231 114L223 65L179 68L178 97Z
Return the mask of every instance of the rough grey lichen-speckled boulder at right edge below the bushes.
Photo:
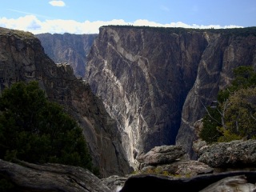
M256 140L218 142L199 150L199 162L211 167L250 167L256 165Z

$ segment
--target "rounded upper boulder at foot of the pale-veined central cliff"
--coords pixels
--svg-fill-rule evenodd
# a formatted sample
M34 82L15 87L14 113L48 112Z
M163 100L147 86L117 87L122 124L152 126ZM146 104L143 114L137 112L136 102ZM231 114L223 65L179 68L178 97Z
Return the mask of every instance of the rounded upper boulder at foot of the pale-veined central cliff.
M185 154L186 151L182 146L155 146L146 154L140 155L137 160L146 165L168 164L182 158Z

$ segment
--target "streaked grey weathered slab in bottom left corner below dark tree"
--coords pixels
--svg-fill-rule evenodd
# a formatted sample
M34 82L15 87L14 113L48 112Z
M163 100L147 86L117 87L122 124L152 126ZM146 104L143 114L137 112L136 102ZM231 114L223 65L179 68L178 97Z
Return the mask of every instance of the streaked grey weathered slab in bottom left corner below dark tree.
M0 159L0 174L10 179L15 191L110 192L89 170L60 164L20 165Z

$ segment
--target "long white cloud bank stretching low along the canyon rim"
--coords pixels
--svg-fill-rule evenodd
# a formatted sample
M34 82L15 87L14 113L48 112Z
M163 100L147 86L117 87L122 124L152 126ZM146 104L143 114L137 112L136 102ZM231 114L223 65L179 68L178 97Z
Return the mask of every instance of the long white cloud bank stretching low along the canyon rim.
M235 28L242 26L219 26L219 25L188 25L183 22L170 22L167 24L161 24L157 22L150 22L145 19L138 19L134 22L125 22L122 19L114 19L111 21L103 22L76 22L74 20L62 20L62 19L48 19L44 22L40 21L35 15L26 15L17 19L13 18L0 18L0 26L6 27L14 30L25 30L30 31L33 34L98 34L98 28L100 26L107 25L133 25L133 26L162 26L162 27L184 27L184 28L198 28L198 29L207 29L207 28Z

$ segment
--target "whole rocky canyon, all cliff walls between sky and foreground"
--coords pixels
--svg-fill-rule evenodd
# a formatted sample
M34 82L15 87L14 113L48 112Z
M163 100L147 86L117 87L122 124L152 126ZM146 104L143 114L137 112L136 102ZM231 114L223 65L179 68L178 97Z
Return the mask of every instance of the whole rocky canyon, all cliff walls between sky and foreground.
M235 67L256 67L255 27L102 26L90 38L38 34L42 45L32 34L2 31L3 86L37 79L82 126L104 177L129 173L154 146L182 145L196 158L194 122Z

